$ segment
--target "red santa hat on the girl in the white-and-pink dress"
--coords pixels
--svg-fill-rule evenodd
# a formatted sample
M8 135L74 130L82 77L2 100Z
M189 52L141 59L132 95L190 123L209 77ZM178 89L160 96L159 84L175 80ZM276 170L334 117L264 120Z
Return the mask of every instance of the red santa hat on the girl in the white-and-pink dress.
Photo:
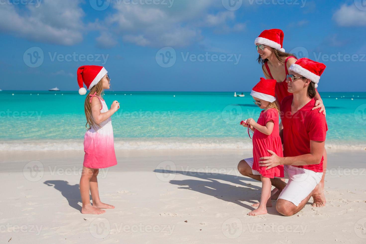
M78 68L77 77L79 84L79 94L85 95L86 89L83 87L83 83L86 85L87 89L90 90L91 87L97 85L97 83L107 74L102 66L97 65L83 65Z

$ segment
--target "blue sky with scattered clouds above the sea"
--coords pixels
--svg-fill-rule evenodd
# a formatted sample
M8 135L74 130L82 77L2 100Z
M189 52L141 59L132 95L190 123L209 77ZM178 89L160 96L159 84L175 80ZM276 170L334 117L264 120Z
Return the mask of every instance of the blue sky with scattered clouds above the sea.
M254 39L278 28L286 51L326 64L319 91L366 91L366 0L228 1L2 0L0 89L77 91L92 64L116 91L250 91Z

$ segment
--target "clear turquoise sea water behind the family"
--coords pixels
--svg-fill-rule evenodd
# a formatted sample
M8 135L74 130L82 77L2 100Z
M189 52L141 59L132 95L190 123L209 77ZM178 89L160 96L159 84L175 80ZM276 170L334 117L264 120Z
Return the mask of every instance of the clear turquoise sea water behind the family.
M126 95L125 95L126 94ZM248 92L106 91L117 149L250 148L242 119L261 111ZM0 150L82 149L84 99L77 91L1 91ZM365 149L366 93L321 93L327 146ZM26 144L27 143L27 144ZM29 143L33 143L29 147ZM63 146L60 146L63 145Z

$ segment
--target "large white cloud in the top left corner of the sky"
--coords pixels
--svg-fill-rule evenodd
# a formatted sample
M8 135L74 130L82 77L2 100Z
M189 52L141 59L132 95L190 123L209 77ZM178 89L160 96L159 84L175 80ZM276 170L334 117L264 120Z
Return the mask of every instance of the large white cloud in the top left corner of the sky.
M81 0L43 0L39 7L27 5L20 11L11 4L0 7L0 31L32 41L73 45L82 41L84 16Z

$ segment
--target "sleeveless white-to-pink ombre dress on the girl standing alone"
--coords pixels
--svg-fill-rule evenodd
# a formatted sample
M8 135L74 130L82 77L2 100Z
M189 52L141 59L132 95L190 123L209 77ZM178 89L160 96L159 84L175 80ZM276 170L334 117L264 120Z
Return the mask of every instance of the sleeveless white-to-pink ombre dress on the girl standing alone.
M95 96L101 104L101 113L108 111L105 101L99 98L96 93L90 95L90 101ZM111 167L117 164L116 153L114 150L112 120L109 117L107 120L96 126L88 129L84 136L84 163L83 166L93 169L101 169Z

